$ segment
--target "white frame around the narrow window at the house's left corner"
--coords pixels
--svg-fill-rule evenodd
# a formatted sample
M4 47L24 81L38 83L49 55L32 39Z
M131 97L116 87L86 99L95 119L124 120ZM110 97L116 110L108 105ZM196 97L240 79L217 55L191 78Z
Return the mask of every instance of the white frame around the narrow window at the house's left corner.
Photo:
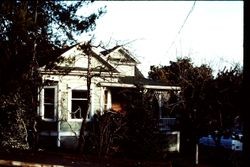
M54 89L54 117L53 118L45 118L45 98L44 98L44 91L45 89L51 89L53 88ZM47 121L47 122L55 122L56 119L57 119L57 100L58 100L58 97L57 97L57 86L56 85L53 85L53 86L44 86L42 89L41 89L41 92L40 92L40 116L42 118L42 120L44 121Z

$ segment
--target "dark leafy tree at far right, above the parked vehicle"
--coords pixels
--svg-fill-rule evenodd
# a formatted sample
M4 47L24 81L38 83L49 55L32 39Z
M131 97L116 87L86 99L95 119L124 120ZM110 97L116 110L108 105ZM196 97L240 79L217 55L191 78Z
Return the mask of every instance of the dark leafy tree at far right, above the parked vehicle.
M242 111L242 81L243 73L239 66L235 66L229 70L224 69L217 74L213 81L214 85L214 101L217 104L217 111L220 115L220 124L217 129L230 129L234 126L235 119L241 115ZM208 90L209 91L209 90ZM211 93L207 91L207 94ZM211 99L212 101L212 99ZM240 130L242 127L237 127Z

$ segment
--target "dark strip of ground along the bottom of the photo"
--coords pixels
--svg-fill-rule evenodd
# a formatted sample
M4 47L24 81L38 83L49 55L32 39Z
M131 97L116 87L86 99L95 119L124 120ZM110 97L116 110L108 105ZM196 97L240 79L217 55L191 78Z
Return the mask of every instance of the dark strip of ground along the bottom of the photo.
M201 148L197 167L236 167L240 166L240 154L226 150ZM1 153L0 166L24 167L192 167L194 158L176 154L168 160L135 160L126 158L100 158L62 152L16 152Z

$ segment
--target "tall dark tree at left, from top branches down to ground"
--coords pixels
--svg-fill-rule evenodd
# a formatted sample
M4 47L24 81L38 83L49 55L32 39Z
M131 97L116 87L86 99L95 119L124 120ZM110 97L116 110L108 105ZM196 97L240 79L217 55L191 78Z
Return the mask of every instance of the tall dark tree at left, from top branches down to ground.
M0 2L0 114L6 118L1 117L0 121L1 141L8 139L7 134L9 137L12 134L27 134L27 129L33 126L37 88L41 85L39 67L50 68L61 61L59 56L67 49L65 45L77 42L74 35L95 28L95 20L104 10L100 9L89 16L77 16L77 10L84 5L87 2ZM17 128L7 128L15 120L16 126L23 126L26 133ZM27 146L27 135L21 138L24 138L23 142L18 139L14 145L21 142ZM3 146L2 142L0 145L11 148L13 143Z

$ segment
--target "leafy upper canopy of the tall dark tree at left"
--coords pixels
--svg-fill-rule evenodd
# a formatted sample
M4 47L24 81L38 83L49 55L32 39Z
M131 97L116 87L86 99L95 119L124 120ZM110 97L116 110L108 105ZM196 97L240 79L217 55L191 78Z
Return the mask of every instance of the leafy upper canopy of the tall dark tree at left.
M84 5L87 2L0 2L0 92L13 82L30 78L31 70L58 60L66 44L76 43L74 34L95 28L95 20L104 10L77 16Z

